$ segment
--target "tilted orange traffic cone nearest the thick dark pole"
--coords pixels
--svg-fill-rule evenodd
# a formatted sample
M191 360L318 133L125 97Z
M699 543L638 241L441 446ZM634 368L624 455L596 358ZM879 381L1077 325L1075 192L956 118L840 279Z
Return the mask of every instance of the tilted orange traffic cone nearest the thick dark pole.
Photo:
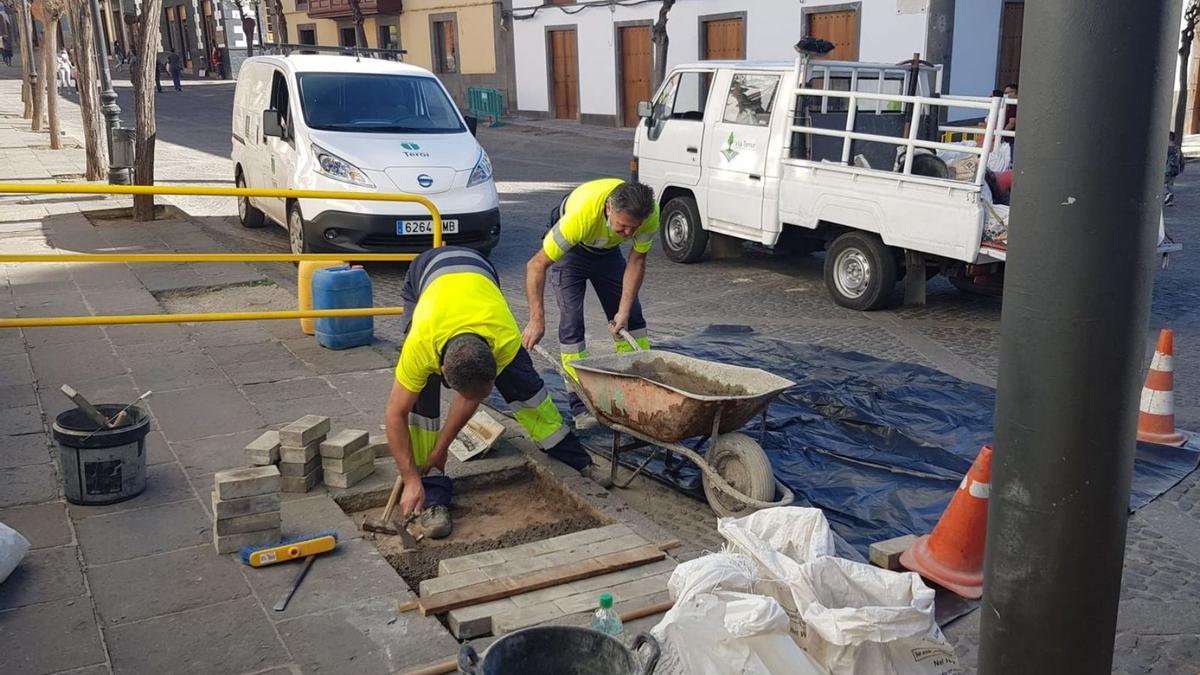
M964 598L983 597L983 546L988 538L990 490L991 446L984 446L934 533L908 546L900 555L900 565Z

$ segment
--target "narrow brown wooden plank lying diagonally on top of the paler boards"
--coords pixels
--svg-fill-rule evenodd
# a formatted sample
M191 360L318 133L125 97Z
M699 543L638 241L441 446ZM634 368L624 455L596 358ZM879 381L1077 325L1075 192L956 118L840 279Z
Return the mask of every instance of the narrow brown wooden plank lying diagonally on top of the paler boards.
M666 554L659 550L659 546L652 544L581 560L570 565L539 569L527 574L493 579L482 584L474 584L455 591L434 593L427 598L421 598L421 614L445 614L460 607L509 598L518 593L527 593L558 584L570 584L580 579L637 567L662 560L664 557L666 557Z

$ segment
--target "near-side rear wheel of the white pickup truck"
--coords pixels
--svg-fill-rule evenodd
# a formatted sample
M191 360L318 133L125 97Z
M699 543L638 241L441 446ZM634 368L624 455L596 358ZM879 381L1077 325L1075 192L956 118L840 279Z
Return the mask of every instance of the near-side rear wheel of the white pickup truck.
M826 252L826 288L833 301L852 310L882 309L896 286L896 259L875 234L847 232Z

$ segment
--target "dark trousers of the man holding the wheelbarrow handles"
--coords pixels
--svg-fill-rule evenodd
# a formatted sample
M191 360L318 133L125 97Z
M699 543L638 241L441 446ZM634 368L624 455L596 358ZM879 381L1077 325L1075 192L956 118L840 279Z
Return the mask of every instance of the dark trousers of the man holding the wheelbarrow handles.
M619 247L598 250L575 246L550 268L550 285L554 288L554 299L558 301L558 342L562 345L563 365L568 366L568 372L571 360L588 353L583 321L587 285L592 283L605 317L612 321L620 309L624 280L625 256ZM646 318L642 317L642 303L638 299L634 299L629 312L629 331L635 339L646 338ZM618 340L618 347L625 348L624 340ZM574 392L568 399L571 414L581 414L587 410Z

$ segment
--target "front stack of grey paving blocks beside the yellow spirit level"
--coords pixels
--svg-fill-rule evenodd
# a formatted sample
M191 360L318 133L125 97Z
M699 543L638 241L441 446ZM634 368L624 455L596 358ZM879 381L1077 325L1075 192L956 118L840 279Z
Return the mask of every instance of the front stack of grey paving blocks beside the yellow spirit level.
M212 545L218 554L265 546L280 537L280 470L252 466L214 477Z

